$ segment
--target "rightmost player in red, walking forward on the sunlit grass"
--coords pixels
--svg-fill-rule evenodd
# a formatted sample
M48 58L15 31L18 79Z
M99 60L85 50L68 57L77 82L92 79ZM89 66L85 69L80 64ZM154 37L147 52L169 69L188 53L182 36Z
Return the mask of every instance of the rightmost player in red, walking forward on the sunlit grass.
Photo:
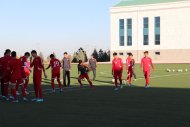
M145 88L150 87L150 73L151 73L150 67L152 67L152 69L154 70L152 59L148 56L148 54L149 54L148 51L144 52L144 57L141 59L141 64L140 64L140 68L141 70L143 70L144 77L146 80Z

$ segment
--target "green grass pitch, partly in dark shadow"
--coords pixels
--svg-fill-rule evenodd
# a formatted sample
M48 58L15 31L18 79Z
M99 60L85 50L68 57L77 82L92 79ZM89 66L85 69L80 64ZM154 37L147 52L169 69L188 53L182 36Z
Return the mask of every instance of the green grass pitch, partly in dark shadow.
M167 68L175 72L166 72ZM176 72L178 69L183 72ZM135 86L125 86L119 91L114 91L109 64L98 65L93 89L87 82L84 82L86 87L78 88L76 65L72 65L71 72L71 84L75 87L64 88L63 93L44 91L44 103L0 101L0 127L190 126L190 64L155 65L150 89L144 88L139 65L136 65ZM42 82L43 90L51 88L50 70L47 73L48 79ZM32 82L29 88L33 90ZM31 93L29 98L33 97Z

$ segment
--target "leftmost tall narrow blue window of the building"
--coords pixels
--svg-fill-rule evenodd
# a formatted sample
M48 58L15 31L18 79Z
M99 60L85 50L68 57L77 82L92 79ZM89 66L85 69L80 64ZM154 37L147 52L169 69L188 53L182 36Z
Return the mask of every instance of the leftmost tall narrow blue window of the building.
M119 20L119 45L124 46L124 19Z

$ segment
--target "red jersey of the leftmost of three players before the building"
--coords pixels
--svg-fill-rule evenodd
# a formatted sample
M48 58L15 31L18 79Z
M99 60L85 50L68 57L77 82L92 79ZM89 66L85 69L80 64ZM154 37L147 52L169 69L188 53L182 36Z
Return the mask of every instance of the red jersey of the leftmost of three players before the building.
M121 58L112 60L112 71L122 71L123 70L123 61Z

